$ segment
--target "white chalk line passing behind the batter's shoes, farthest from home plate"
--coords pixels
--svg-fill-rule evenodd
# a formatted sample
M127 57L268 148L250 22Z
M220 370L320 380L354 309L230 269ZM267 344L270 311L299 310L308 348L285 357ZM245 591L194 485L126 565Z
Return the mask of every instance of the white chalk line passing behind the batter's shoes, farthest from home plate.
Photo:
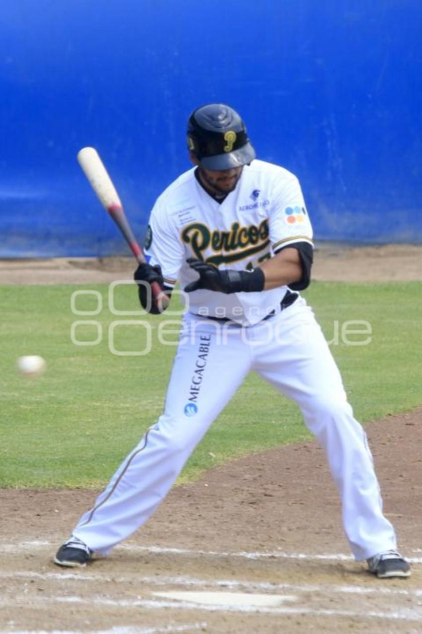
M50 547L53 544L49 541L23 541L19 544L1 544L0 552L20 552L21 550L30 550L32 548ZM57 545L56 545L57 546ZM159 555L190 555L190 556L206 556L206 557L240 557L244 559L307 559L307 560L323 560L323 561L354 561L352 555L344 555L343 553L326 553L316 555L311 553L287 553L280 550L273 552L220 552L216 550L189 550L188 548L165 548L159 546L135 546L120 544L116 546L116 550L130 550L132 552L147 552ZM422 557L406 557L411 564L422 564Z

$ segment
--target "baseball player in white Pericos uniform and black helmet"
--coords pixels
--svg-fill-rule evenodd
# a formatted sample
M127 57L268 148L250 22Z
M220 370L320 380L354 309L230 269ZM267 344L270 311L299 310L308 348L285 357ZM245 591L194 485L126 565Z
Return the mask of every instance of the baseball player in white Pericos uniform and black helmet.
M254 370L298 404L325 451L356 560L380 578L408 577L363 428L313 311L312 229L294 174L257 160L242 119L220 103L197 108L187 143L194 167L159 196L135 271L151 313L150 283L185 313L163 414L59 548L59 566L85 566L152 515L213 420ZM247 415L247 413L245 413ZM280 417L283 412L280 411Z

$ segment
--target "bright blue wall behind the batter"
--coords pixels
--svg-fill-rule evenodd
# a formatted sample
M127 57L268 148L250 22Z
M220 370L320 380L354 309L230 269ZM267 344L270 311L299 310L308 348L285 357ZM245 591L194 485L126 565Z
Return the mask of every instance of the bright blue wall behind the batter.
M318 240L422 242L419 0L1 4L0 256L127 254L78 150L142 239L209 101L297 174Z

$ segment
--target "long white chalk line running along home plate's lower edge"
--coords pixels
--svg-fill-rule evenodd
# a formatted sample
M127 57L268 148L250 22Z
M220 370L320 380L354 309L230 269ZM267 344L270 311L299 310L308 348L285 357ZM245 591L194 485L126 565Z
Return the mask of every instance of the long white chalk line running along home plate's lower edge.
M25 597L26 600L26 597ZM353 610L328 610L325 608L314 609L309 607L249 607L248 605L204 605L195 604L194 602L185 601L158 601L151 599L135 599L135 600L113 600L109 598L83 598L83 597L37 597L36 600L32 599L32 602L38 603L60 603L60 604L78 604L78 605L102 605L104 607L123 607L123 608L139 608L146 607L148 609L163 609L163 608L175 608L178 611L180 609L206 611L206 612L253 612L254 614L301 614L312 616L345 616L352 617L361 620L381 618L394 621L421 621L422 622L422 609L402 609L392 612L381 612L373 610L365 610L363 612L356 612ZM0 605L8 605L3 598L0 599ZM16 634L16 633L13 633Z

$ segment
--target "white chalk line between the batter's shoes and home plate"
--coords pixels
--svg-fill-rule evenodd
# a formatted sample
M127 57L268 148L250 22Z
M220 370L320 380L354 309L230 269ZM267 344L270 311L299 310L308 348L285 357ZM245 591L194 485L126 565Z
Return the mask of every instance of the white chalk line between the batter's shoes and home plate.
M261 592L273 592L275 590L294 590L295 592L332 592L340 594L358 595L402 595L407 597L422 597L422 589L398 589L385 587L364 586L338 586L328 584L294 584L294 583L270 583L268 581L241 581L237 579L197 579L183 576L140 576L137 574L124 576L104 576L101 574L87 573L85 570L79 573L34 573L31 571L1 572L0 579L39 579L40 581L77 581L86 583L142 583L154 586L184 586L192 588L230 588L232 590L261 590ZM0 632L1 634L1 632Z

